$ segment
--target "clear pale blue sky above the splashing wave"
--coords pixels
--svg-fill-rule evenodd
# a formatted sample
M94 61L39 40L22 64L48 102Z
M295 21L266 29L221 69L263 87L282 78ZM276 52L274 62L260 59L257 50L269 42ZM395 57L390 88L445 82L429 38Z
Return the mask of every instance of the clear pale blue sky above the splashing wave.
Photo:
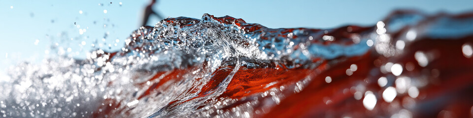
M65 51L70 48L77 58L85 57L96 40L117 50L138 28L141 11L148 2L0 0L0 73L19 61L39 62L55 43ZM473 0L159 0L154 9L166 17L229 15L269 28L334 28L346 24L373 25L397 8L459 13L472 11L472 4ZM149 25L154 25L159 20L150 21ZM82 34L81 29L85 29ZM116 39L118 46L114 46ZM106 45L101 48L108 50Z

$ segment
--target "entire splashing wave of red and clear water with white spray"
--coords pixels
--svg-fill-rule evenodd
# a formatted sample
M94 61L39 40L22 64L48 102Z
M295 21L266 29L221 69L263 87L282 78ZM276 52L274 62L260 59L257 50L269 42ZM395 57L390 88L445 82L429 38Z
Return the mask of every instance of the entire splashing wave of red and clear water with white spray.
M10 68L0 117L468 117L472 25L415 11L337 29L168 18L117 52Z

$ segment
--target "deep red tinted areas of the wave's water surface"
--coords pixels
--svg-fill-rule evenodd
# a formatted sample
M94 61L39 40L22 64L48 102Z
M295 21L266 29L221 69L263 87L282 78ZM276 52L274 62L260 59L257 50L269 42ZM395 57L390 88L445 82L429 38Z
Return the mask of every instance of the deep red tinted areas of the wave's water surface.
M395 12L396 14L405 14L406 12ZM407 12L410 13L410 12ZM418 26L432 22L437 17L448 17L452 19L470 19L473 15L437 15L427 17L427 20L419 23ZM247 24L241 19L235 19L229 16L210 17L223 24L236 24L236 26L245 29L247 32L280 31L281 35L285 32L292 32L294 29L266 29L258 24ZM166 19L166 22L178 24L182 27L192 26L199 20L190 18L173 18ZM384 22L388 22L389 17ZM324 45L342 44L351 45L351 37L354 34L374 31L376 28L347 26L331 30L326 35L334 36L336 39L332 42L321 40L313 40L311 43L319 43ZM321 29L304 29L320 31ZM393 41L390 43L395 45L396 40L400 40L404 35L403 32L408 27L398 32L391 32ZM297 38L297 37L293 37ZM262 37L261 39L265 39ZM315 38L314 38L315 39ZM320 37L318 37L320 39ZM267 40L267 39L266 39ZM240 66L235 75L231 78L230 83L225 91L213 100L235 99L236 102L229 104L219 110L231 111L241 104L252 101L254 97L260 100L259 105L253 106L253 117L260 118L373 118L373 117L391 117L399 111L409 111L414 118L468 118L473 116L473 59L467 58L462 52L464 44L473 44L473 34L451 38L432 38L429 36L418 36L415 40L406 43L402 53L392 57L385 57L374 49L374 46L365 54L352 57L338 57L336 59L311 59L313 63L319 63L317 67L310 68L302 63L294 68L288 68L286 65L294 62L283 61L263 61L264 67L247 67ZM297 46L295 48L298 48ZM428 58L428 64L422 67L418 64L414 55L416 52L424 52ZM384 64L392 62L399 63L403 67L400 76L395 76L389 72L382 72L380 68ZM202 65L193 65L183 69L174 69L169 72L155 73L149 81L161 78L151 86L144 86L145 83L136 83L135 86L142 86L146 89L144 93L138 94L137 99L142 100L147 97L160 95L161 91L169 89L170 86L178 85L186 73L192 73L193 70L206 67L206 62ZM279 63L279 64L275 64ZM352 64L357 65L356 71L352 75L347 75L347 69ZM190 100L206 96L218 89L221 83L230 75L235 68L235 63L220 66L212 73L210 81L204 83L203 88L192 87L183 95L196 93L198 96L190 99L176 99L170 102L166 108L172 109L189 102ZM326 82L326 77L330 76L332 81ZM378 85L380 77L387 77L388 84L385 87ZM398 93L392 102L383 100L383 91L386 87L396 87L395 79L399 77L409 77L411 83L417 83L418 96L411 97L407 92ZM304 88L295 92L293 88L297 88L297 82L306 81ZM199 78L197 79L199 81ZM146 81L145 81L146 82ZM368 110L363 104L362 99L355 99L357 86L363 86L364 91L372 91L376 96L377 102L373 110ZM282 95L279 103L270 105L269 109L264 103L269 96L262 96L265 91L271 89L279 89L285 87L285 90L278 92ZM364 96L364 95L363 95ZM131 97L131 96L130 96ZM209 103L211 103L209 101ZM131 110L126 105L120 104L114 99L106 99L104 106L101 106L101 112L97 110L94 113L95 118L105 117L127 117ZM112 105L107 105L112 104ZM197 109L203 109L203 106ZM265 111L262 112L261 111ZM185 112L185 111L184 111ZM119 114L121 113L121 114ZM118 116L117 116L118 115ZM216 116L217 113L210 114ZM133 115L128 116L133 117Z

